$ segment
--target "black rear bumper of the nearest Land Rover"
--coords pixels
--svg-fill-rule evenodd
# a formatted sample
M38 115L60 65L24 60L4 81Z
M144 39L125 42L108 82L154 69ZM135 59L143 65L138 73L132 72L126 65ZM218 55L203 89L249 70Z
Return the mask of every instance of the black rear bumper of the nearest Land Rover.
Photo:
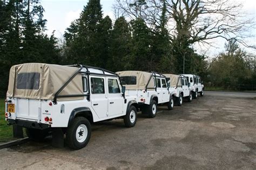
M18 126L22 126L22 127L36 128L36 129L41 129L41 130L51 127L51 125L37 123L36 121L18 120L18 119L16 119L16 120L7 119L7 121L8 121L8 125L18 125Z

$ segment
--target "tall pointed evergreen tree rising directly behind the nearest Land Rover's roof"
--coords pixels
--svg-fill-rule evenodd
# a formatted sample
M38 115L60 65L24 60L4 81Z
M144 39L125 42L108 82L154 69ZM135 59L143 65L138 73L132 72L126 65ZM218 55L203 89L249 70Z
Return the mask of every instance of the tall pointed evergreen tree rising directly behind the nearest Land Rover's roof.
M86 65L106 67L107 45L111 19L103 19L99 0L90 0L80 14L77 22L72 23L65 33L67 45L66 56L70 62L76 61ZM76 35L76 36L73 36ZM70 41L70 37L72 37Z

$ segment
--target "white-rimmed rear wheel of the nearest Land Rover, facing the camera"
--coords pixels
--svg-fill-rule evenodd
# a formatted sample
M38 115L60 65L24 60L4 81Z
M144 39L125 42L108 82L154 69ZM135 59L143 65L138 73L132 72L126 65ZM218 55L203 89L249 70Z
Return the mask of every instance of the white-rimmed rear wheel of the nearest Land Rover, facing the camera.
M85 147L91 138L91 124L84 117L75 118L66 132L66 140L70 148Z

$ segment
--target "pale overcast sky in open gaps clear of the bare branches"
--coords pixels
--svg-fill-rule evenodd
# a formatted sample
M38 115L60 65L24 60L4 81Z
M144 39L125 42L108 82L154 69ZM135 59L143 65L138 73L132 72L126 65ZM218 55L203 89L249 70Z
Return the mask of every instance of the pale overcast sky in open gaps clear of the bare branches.
M74 20L79 18L80 12L83 10L84 5L87 4L89 0L41 0L41 4L45 9L44 18L47 19L47 33L48 35L51 34L53 30L55 30L56 37L62 37L64 34L65 29L70 25L70 23ZM251 13L254 16L254 20L256 18L256 0L236 0L237 2L242 2L244 5L244 10L248 13ZM101 0L100 3L102 4L103 14L104 16L109 15L110 18L114 19L112 5L115 0ZM234 1L235 2L235 1ZM256 30L252 29L252 33L256 35ZM248 39L248 43L254 44L256 40L254 38ZM214 47L203 47L200 48L197 45L195 48L198 52L205 51L207 49L207 55L216 55L219 51L223 50L223 46L225 41L223 39L215 39L214 40L215 46L218 48L215 49ZM255 52L255 50L248 50L250 52Z

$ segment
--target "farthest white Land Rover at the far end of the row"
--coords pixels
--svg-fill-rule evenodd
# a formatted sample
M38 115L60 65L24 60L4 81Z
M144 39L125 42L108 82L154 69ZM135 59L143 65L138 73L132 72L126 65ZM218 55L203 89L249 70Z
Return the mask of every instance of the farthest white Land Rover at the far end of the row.
M204 85L201 78L194 74L183 74L187 78L187 81L190 83L192 96L194 99L197 99L198 93L200 96L204 96Z

